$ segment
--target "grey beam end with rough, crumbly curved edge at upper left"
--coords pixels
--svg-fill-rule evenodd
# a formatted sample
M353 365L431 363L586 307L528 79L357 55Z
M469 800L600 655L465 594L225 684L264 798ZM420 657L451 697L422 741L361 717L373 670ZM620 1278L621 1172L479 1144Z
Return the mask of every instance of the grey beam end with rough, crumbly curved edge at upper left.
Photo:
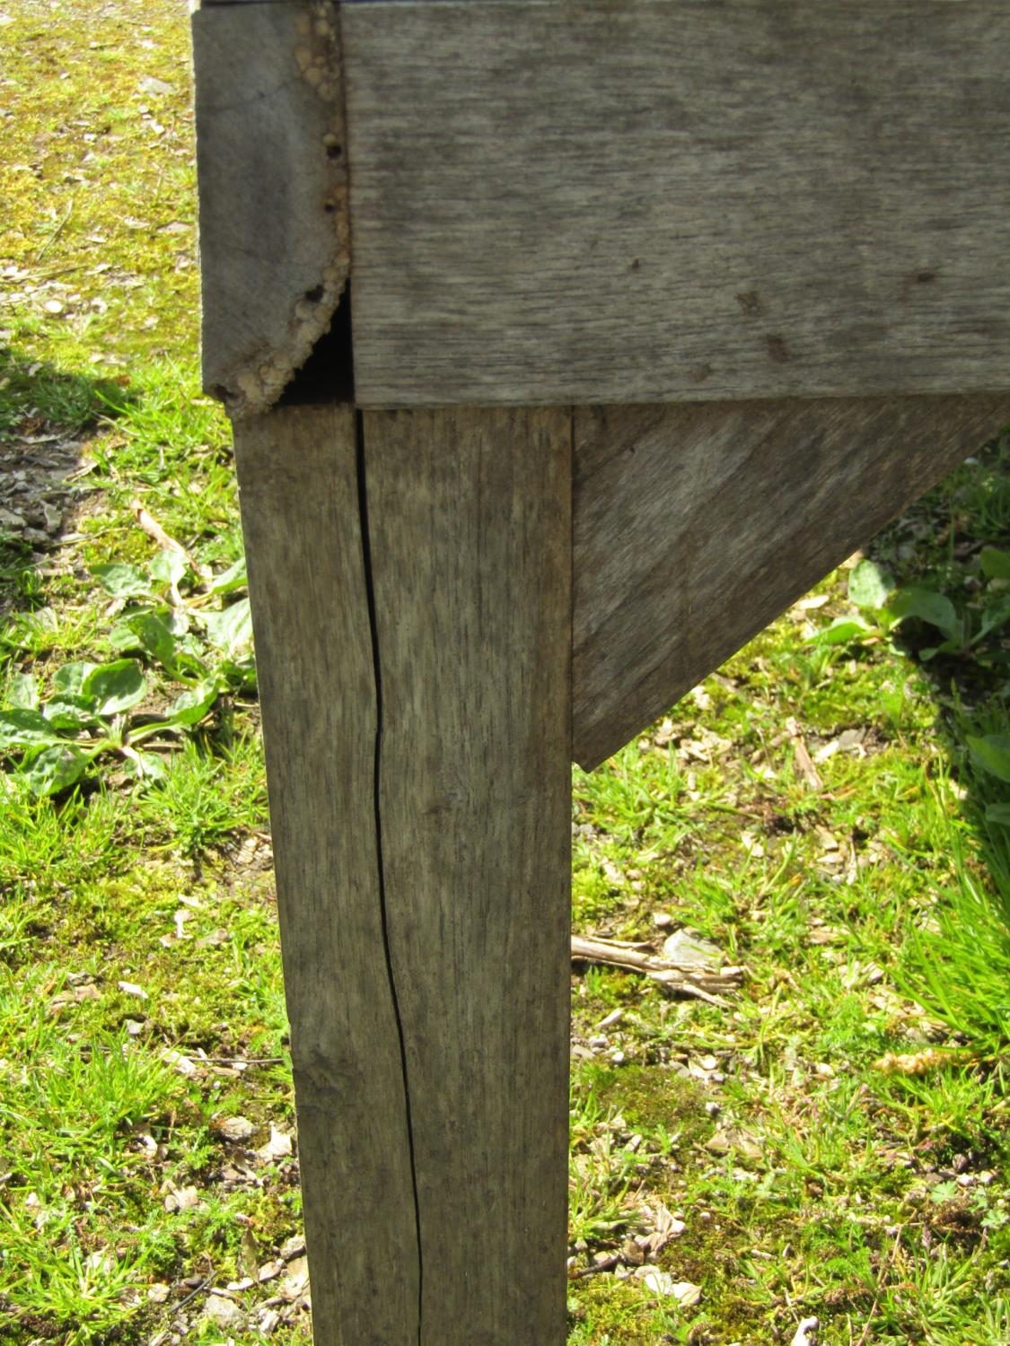
M347 279L335 8L206 5L193 48L203 386L234 420L277 400Z

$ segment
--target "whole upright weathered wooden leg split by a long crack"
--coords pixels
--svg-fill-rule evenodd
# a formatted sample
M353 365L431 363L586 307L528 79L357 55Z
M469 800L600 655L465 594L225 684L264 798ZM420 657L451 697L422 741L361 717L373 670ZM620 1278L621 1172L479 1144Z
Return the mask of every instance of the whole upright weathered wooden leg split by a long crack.
M571 427L237 427L318 1346L560 1346Z

